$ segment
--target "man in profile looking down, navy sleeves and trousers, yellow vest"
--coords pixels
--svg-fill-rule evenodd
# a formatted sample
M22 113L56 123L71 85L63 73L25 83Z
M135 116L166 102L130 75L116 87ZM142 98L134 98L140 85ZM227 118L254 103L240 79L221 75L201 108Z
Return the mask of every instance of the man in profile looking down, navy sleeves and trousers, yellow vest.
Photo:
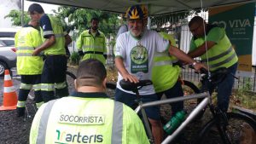
M58 97L67 96L66 84L67 57L65 50L66 37L61 20L44 14L44 9L38 3L32 3L28 8L32 20L38 20L41 27L43 44L34 50L32 55L44 51L46 59L41 78L41 91L45 102Z

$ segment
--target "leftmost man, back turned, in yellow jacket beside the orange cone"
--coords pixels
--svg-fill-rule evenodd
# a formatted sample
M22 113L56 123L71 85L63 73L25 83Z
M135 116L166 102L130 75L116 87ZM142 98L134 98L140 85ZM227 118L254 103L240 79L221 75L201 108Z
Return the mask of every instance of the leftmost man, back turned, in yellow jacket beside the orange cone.
M31 20L15 34L17 72L21 77L17 103L18 117L24 116L27 95L32 88L35 92L36 106L40 107L44 103L40 91L43 58L32 55L33 50L42 44L40 33L36 29L38 26L38 21Z

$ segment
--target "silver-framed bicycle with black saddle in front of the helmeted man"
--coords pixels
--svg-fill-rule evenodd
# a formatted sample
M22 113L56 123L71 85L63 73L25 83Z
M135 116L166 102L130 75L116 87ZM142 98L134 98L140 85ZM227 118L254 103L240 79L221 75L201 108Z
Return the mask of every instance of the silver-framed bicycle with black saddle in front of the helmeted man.
M195 107L195 109L189 113L189 116L183 121L182 124L180 124L177 128L177 130L175 130L172 135L168 135L166 137L166 139L163 141L163 144L167 144L169 142L173 142L175 138L177 138L177 135L181 134L181 132L184 130L184 128L191 122L193 122L193 120L197 117L197 115L199 113L201 113L201 111L203 109L205 109L205 107L209 107L210 111L212 112L212 119L209 120L209 122L203 127L203 129L201 130L201 132L199 133L200 135L197 135L197 139L195 139L195 141L191 141L195 144L197 143L205 143L206 141L202 141L203 138L206 137L206 134L209 133L209 130L212 129L213 126L217 125L218 128L218 134L221 135L221 138L219 138L219 140L222 143L234 143L233 140L236 140L234 138L234 136L236 135L228 135L228 132L226 131L228 126L230 126L233 123L230 123L231 119L241 119L243 122L246 122L247 124L249 124L252 128L253 131L256 131L256 122L253 118L248 117L245 114L239 113L239 112L228 112L227 115L225 115L224 112L221 112L220 110L218 110L217 107L214 107L214 105L212 104L212 98L209 95L209 93L204 92L204 93L200 93L200 94L196 94L196 95L188 95L188 96L183 96L183 97L177 97L177 98L172 98L172 99L167 99L167 100L160 100L160 101L152 101L152 102L147 102L147 103L143 103L141 96L138 93L138 89L142 88L143 86L152 84L152 82L150 80L142 80L137 84L131 84L130 82L125 82L125 80L121 80L120 81L120 85L123 89L125 90L130 90L136 93L137 95L137 105L138 107L136 108L136 112L141 112L142 113L142 120L143 120L143 124L145 124L145 130L148 134L148 140L151 143L154 143L154 139L148 124L148 118L147 118L147 114L144 111L145 107L152 107L152 106L159 106L161 104L166 104L166 103L172 103L172 102L177 102L177 101L186 101L186 100L190 100L190 99L203 99L198 105L197 107ZM233 126L233 125L231 125ZM239 129L238 129L239 130ZM241 129L239 130L241 131ZM230 138L230 136L232 136ZM207 136L207 138L209 138ZM230 141L232 140L232 141ZM218 142L219 143L219 142Z

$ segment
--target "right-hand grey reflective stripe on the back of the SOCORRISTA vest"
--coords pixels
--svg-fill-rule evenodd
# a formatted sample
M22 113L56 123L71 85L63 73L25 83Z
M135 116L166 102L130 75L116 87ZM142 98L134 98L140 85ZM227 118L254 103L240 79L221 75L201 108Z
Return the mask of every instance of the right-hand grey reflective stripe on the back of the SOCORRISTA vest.
M122 143L122 136L123 136L122 134L123 134L123 104L120 102L114 101L111 143L112 144Z

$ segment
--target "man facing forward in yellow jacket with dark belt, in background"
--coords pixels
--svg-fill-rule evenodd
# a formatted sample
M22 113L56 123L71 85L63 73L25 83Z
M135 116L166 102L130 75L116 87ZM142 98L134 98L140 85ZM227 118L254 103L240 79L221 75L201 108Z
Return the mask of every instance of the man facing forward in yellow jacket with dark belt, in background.
M104 65L107 59L106 38L98 30L99 19L90 20L90 29L82 32L77 41L79 55L83 56L82 60L96 59Z

